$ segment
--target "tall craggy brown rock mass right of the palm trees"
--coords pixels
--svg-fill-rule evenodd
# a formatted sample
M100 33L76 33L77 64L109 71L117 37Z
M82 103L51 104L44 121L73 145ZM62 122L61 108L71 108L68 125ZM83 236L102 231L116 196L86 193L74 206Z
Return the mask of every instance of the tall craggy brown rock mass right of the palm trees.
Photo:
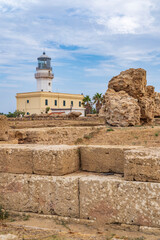
M152 124L160 116L160 94L147 86L144 69L129 69L113 77L105 93L100 115L113 126Z

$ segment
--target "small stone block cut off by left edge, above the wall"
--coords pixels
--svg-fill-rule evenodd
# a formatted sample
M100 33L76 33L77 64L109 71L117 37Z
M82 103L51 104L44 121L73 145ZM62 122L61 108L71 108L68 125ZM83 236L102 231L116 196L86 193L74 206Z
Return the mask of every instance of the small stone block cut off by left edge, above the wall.
M8 140L9 124L6 116L0 115L0 141Z

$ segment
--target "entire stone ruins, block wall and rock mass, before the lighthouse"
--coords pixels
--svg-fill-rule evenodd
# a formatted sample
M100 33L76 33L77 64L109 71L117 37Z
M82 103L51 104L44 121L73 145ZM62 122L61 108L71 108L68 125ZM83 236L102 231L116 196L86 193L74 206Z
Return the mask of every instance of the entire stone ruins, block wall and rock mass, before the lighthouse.
M159 103L146 71L129 69L109 82L99 117L0 117L0 206L159 236Z

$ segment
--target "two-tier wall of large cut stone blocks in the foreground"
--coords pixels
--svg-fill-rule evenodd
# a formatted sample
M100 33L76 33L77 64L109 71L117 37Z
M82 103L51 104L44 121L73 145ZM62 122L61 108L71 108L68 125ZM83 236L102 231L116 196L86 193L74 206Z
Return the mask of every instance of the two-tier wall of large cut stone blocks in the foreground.
M0 145L0 156L6 210L160 228L158 149Z

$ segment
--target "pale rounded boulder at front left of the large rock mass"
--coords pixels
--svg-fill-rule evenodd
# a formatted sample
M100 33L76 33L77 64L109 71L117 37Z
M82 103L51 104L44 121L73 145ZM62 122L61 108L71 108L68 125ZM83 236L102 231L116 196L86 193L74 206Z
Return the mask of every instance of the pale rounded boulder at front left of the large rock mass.
M134 126L140 124L140 107L137 100L126 92L108 89L105 94L106 122L112 126Z

